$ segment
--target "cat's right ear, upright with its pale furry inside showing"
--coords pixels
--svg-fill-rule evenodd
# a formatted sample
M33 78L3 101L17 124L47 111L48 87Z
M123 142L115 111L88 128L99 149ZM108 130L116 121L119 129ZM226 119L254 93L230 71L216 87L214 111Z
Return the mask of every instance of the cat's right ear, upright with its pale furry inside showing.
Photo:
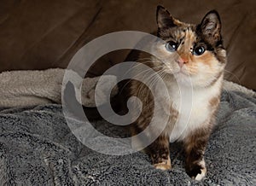
M220 29L221 22L216 10L211 10L201 20L201 32L211 41L211 43L217 43L221 39Z

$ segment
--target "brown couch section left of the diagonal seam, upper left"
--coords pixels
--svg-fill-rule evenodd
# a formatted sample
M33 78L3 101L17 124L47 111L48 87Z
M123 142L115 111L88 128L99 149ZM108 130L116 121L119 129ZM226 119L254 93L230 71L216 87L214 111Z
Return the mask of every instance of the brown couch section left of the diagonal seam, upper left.
M61 58L90 26L94 1L15 1L0 6L1 71L66 67Z

